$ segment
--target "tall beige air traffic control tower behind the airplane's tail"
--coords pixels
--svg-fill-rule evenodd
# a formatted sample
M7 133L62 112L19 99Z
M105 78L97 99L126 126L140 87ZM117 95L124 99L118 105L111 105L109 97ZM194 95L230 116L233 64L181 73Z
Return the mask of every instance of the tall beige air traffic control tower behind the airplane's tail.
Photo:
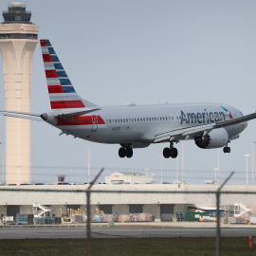
M32 58L39 27L21 3L9 4L0 24L6 110L30 111ZM30 182L30 121L6 118L6 182Z

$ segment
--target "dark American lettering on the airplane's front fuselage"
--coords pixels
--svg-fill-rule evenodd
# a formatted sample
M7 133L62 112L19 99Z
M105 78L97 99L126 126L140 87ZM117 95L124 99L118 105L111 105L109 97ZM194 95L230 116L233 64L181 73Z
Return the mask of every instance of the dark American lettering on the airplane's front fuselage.
M220 120L225 120L223 112L202 112L202 113L187 113L180 111L180 124L182 123L208 123Z

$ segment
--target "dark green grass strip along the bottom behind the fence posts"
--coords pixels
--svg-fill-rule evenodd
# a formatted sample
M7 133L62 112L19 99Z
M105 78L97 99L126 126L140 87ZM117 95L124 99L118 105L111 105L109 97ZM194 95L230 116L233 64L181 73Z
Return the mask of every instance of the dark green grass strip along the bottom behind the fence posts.
M248 247L248 238L222 238L221 254L225 256L256 255ZM106 256L208 256L215 255L215 238L99 238L92 239L92 255ZM1 240L0 255L86 255L84 239Z

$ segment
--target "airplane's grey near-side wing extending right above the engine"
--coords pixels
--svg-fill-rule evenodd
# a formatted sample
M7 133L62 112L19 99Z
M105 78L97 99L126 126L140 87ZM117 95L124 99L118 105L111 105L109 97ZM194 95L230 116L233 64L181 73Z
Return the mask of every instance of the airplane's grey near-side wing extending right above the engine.
M170 131L166 131L164 133L156 135L154 143L166 142L166 141L172 141L172 140L174 141L178 139L185 139L185 138L192 138L192 137L197 137L201 135L207 135L213 129L238 124L241 122L246 122L251 119L256 119L256 112L249 114L247 116L236 118L236 119L229 119L229 120L217 121L210 124L203 124L203 125L197 125L197 126L192 126L188 128L170 130Z

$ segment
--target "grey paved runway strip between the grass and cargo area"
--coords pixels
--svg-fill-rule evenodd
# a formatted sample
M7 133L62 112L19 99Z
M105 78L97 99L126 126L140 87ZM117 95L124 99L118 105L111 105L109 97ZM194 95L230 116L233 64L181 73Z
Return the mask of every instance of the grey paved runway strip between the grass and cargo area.
M93 228L92 238L147 238L147 237L215 237L213 228ZM256 236L255 228L224 228L221 235L227 237ZM0 239L76 239L86 238L86 229L81 228L24 228L0 229Z

